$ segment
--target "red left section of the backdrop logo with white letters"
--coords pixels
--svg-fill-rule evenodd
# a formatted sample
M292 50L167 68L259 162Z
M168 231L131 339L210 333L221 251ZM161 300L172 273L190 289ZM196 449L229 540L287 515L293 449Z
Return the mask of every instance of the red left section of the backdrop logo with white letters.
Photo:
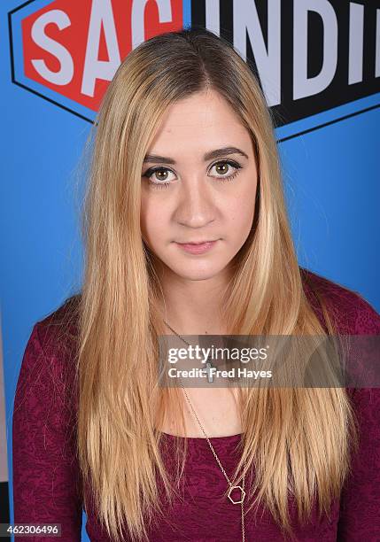
M27 79L97 112L131 50L182 28L182 0L55 0L21 28Z

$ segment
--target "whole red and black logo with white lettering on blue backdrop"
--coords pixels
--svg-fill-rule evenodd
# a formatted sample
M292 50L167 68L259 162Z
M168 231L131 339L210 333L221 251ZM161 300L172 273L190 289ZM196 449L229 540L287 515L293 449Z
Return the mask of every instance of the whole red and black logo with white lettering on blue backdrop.
M249 62L277 127L380 91L380 0L30 0L9 12L12 81L92 122L121 60L188 26Z

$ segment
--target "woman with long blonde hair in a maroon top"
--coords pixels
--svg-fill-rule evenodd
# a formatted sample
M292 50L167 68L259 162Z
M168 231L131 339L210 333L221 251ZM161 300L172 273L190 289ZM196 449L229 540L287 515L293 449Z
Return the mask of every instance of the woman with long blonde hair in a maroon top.
M249 66L206 30L151 38L95 132L83 287L20 371L15 523L78 540L83 506L99 541L379 540L378 390L158 385L162 335L380 333L298 266Z

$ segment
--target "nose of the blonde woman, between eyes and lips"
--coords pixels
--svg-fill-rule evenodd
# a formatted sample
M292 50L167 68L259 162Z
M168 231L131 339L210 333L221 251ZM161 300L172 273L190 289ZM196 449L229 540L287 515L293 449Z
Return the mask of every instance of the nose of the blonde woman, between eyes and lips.
M215 217L214 195L204 177L191 176L183 180L174 214L175 221L188 228L204 228Z

